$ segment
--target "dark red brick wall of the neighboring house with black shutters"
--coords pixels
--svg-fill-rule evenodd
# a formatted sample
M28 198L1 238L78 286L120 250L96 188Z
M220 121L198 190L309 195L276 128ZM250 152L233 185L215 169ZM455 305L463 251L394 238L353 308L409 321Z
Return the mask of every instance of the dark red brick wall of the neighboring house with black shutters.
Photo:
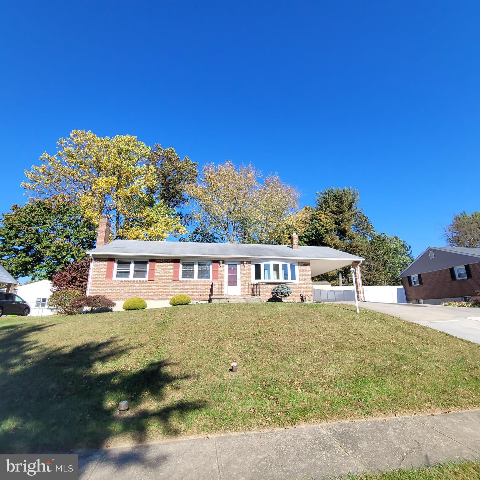
M407 301L475 297L480 290L480 263L470 264L470 270L472 277L463 280L452 280L448 268L422 273L423 285L416 287L410 287L408 278L404 277L402 283Z

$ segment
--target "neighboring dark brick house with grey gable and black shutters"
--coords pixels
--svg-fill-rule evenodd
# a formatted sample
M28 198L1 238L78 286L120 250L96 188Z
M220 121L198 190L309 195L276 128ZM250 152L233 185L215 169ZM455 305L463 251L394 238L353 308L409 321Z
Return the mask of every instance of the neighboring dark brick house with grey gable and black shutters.
M479 296L480 248L429 247L399 276L408 303L468 301Z

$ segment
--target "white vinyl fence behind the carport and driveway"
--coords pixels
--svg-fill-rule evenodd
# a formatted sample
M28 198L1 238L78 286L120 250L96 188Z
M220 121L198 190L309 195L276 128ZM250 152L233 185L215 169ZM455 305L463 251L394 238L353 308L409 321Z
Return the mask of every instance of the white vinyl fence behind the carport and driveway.
M365 301L380 303L407 303L405 290L401 286L386 285L363 287ZM313 300L315 301L355 301L353 287L330 287L328 285L313 285Z

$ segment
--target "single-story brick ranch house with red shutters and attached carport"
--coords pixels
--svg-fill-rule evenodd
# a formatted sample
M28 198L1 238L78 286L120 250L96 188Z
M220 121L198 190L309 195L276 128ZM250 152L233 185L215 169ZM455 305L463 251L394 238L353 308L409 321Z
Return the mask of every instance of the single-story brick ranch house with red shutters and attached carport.
M92 258L87 295L106 295L121 306L129 297L142 297L149 307L160 306L185 293L193 301L260 301L271 297L277 284L288 284L288 300L300 293L312 300L312 276L347 265L357 269L363 258L329 247L178 241L114 240L102 219ZM361 277L357 284L361 299Z

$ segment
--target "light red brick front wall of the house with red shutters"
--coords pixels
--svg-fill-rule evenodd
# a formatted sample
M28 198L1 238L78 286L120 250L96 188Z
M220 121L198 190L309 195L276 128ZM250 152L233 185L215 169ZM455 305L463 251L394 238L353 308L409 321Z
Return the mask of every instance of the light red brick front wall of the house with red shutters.
M240 262L240 295L245 295L245 283L251 282L250 262L244 266ZM144 300L169 300L173 295L185 293L193 301L208 301L212 288L211 280L179 280L173 281L173 260L157 259L155 266L155 280L105 280L107 269L106 258L95 258L92 266L92 278L89 295L106 295L111 300L126 300L130 297L141 297ZM224 281L225 262L218 268L218 280ZM312 300L312 274L310 263L299 263L299 284L289 284L292 295L288 300L299 301L300 291L303 291L309 300ZM262 300L271 297L272 288L278 284L261 283L260 295Z

